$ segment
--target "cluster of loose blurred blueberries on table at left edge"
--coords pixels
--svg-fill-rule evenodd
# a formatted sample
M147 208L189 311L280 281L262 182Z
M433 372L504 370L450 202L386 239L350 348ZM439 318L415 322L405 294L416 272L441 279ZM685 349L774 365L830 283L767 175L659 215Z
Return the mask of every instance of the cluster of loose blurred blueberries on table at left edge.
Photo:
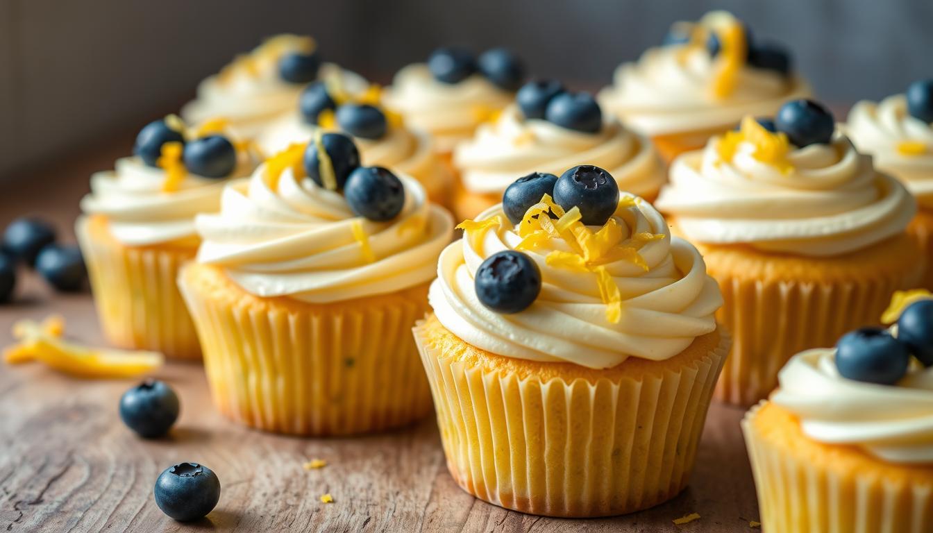
M88 277L81 250L56 243L51 224L38 218L13 220L0 244L0 302L9 302L16 288L19 264L35 269L55 290L74 292L84 288Z

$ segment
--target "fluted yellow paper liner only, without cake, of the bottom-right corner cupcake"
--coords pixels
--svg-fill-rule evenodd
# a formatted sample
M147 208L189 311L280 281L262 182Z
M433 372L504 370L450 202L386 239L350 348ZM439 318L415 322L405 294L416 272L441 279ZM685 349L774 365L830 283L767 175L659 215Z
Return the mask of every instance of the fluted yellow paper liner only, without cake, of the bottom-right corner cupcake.
M930 533L933 482L898 483L875 471L833 469L763 436L754 407L742 421L766 533Z

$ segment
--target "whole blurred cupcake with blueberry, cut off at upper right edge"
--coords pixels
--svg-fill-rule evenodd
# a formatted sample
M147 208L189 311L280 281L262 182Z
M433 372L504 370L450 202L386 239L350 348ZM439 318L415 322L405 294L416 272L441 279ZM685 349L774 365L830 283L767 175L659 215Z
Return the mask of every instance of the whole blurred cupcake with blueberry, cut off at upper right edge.
M921 285L933 288L933 79L913 83L905 94L880 104L859 102L849 113L845 132L875 166L898 178L920 204L908 232L924 250Z

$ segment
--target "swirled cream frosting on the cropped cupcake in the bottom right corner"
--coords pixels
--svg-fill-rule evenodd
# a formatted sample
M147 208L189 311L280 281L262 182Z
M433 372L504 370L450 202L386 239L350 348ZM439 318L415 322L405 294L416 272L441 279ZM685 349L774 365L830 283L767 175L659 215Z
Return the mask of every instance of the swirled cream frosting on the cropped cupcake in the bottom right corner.
M818 442L849 444L895 463L933 463L933 368L912 365L897 386L846 379L835 350L818 348L790 359L771 400L801 419Z

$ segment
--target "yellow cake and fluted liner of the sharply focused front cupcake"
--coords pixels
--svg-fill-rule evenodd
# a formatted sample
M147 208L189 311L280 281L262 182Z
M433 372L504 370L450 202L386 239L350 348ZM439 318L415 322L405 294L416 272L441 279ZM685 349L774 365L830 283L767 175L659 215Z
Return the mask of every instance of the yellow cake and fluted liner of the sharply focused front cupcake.
M453 479L520 512L635 512L687 484L729 338L592 371L494 356L430 316L414 330ZM631 364L630 364L631 361Z

